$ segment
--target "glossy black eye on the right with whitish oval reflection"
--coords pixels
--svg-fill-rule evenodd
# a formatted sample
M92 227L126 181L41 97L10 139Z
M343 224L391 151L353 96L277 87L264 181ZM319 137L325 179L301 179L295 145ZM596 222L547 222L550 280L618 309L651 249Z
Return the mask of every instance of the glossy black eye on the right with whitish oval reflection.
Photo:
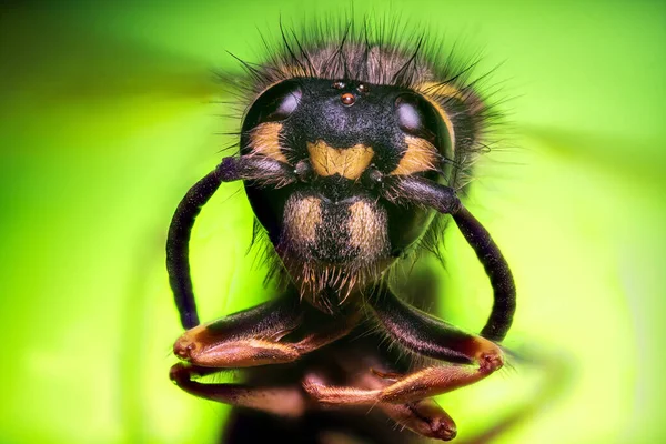
M395 99L394 107L401 130L437 145L438 132L442 128L441 118L425 99L405 92Z

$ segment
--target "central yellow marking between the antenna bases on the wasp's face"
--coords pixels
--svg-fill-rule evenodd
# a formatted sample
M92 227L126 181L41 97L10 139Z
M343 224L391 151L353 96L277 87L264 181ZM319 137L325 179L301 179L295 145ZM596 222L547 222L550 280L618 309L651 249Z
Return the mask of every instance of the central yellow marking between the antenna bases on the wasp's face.
M307 142L312 168L319 175L340 174L356 180L367 169L374 157L372 148L356 144L351 148L332 148L324 141Z

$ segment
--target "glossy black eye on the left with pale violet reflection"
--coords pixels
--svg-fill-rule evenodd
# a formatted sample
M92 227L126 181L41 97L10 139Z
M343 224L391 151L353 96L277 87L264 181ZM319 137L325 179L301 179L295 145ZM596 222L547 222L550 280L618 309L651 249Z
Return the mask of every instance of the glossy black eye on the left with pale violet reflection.
M303 92L294 81L285 81L269 88L252 104L245 117L245 125L255 127L264 122L287 119L299 108Z

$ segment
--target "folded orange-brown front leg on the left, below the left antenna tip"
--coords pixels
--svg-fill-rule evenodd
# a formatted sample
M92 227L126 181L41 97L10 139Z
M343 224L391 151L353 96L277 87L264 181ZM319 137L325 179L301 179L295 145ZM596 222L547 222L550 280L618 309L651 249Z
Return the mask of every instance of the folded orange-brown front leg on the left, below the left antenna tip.
M274 414L299 415L310 402L299 385L205 384L193 379L224 369L295 361L349 333L357 322L356 313L322 319L300 304L297 295L287 294L196 326L183 333L174 344L174 353L185 363L171 369L171 380L199 397ZM293 341L287 341L292 337Z

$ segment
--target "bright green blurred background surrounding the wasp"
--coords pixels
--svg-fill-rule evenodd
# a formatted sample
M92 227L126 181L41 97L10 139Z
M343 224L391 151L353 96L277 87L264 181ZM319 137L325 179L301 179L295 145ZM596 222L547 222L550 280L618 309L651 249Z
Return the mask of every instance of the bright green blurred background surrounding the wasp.
M214 103L224 98L211 69L238 70L226 50L259 60L258 30L276 38L280 17L351 6L313 3L2 3L2 443L214 441L226 407L168 379L181 330L165 231L233 142L218 133L238 129ZM493 80L512 99L505 149L481 162L468 205L516 275L506 344L559 370L517 364L442 397L460 435L538 398L496 442L663 442L665 3L353 9L482 48L478 72L502 63ZM223 185L193 234L204 320L269 296L245 254L252 215L240 190ZM478 330L487 282L455 230L446 242L446 317Z

